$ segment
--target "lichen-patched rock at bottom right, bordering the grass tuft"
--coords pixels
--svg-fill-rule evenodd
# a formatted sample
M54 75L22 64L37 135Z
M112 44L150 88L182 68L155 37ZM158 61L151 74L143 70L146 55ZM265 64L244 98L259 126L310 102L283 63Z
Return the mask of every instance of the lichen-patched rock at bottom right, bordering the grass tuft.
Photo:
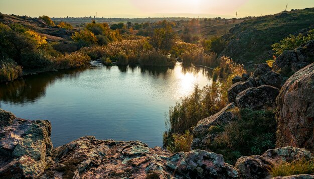
M302 148L276 148L269 149L262 155L242 156L237 160L235 167L243 178L268 178L270 177L268 170L272 165L304 158L313 159L311 153Z

